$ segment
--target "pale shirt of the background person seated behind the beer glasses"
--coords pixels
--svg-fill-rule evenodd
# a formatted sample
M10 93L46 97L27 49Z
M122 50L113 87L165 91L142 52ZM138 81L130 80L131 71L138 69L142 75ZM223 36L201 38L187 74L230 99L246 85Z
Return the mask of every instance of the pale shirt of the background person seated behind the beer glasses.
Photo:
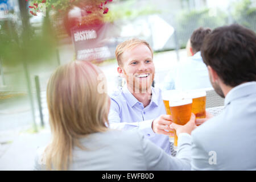
M212 87L208 69L201 52L180 61L167 73L161 86L162 90L194 90Z

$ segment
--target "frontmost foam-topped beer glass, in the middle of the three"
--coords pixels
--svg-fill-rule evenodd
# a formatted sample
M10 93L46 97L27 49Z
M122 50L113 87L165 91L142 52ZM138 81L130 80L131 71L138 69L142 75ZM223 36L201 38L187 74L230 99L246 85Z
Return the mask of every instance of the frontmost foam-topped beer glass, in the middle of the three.
M170 110L172 114L172 122L177 125L185 125L192 113L192 99L191 98L172 98L170 101ZM177 150L177 135L174 131L174 150Z

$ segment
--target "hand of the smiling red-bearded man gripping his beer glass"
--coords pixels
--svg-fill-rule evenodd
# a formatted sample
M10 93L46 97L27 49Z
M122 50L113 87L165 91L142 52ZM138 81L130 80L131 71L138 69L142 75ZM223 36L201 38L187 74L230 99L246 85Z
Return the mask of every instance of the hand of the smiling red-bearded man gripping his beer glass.
M168 114L162 114L158 118L154 119L152 122L152 130L157 134L164 134L169 136L174 136L174 133L169 133L168 131L174 131L170 129L169 125L171 125L172 116ZM167 131L165 131L167 130Z

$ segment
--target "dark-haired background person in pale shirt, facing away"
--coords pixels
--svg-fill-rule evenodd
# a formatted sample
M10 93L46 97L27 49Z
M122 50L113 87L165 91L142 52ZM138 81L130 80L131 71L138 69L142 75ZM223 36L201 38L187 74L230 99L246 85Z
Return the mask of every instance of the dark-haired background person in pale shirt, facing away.
M186 47L187 60L180 61L170 69L160 86L162 90L194 90L212 87L200 51L205 36L210 32L210 28L203 27L193 31Z

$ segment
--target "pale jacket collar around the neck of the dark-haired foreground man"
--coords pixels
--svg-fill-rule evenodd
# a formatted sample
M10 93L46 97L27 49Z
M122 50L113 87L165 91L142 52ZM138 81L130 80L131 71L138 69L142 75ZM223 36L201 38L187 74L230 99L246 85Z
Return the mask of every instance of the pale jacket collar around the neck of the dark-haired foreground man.
M240 84L231 89L225 97L225 106L230 104L233 100L236 100L240 97L245 97L247 95L255 93L256 90L256 81L246 82Z

